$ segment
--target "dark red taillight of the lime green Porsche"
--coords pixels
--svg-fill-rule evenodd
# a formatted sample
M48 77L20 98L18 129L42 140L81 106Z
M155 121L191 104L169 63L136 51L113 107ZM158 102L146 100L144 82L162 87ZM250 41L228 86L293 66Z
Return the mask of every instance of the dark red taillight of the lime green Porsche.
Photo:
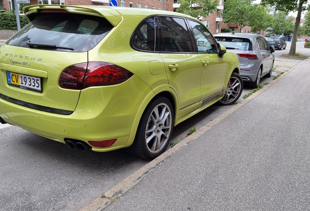
M112 63L78 63L65 68L59 78L59 86L66 89L84 89L91 86L120 84L134 74Z

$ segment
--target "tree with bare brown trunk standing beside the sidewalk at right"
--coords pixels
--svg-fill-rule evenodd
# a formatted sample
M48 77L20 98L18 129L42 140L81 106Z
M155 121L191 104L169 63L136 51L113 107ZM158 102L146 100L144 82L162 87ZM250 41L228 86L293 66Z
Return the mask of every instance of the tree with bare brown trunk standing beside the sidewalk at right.
M269 4L271 6L274 6L275 9L279 11L284 11L286 13L298 11L289 53L289 55L291 56L295 55L296 53L296 41L301 13L302 11L307 10L307 3L308 0L261 0L262 5Z

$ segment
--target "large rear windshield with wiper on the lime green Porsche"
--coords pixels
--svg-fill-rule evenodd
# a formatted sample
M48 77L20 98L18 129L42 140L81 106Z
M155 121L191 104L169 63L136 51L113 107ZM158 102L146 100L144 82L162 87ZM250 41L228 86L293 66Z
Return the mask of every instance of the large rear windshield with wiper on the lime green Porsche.
M95 47L113 28L106 19L79 14L42 14L6 44L56 51L84 52Z

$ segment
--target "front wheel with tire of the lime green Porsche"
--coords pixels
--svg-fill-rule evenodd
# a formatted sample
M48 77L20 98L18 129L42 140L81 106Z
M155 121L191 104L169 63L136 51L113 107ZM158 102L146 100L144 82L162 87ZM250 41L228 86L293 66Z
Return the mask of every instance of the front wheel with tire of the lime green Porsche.
M231 78L227 84L224 97L217 101L218 105L232 105L240 97L243 90L243 81L239 74L232 73Z

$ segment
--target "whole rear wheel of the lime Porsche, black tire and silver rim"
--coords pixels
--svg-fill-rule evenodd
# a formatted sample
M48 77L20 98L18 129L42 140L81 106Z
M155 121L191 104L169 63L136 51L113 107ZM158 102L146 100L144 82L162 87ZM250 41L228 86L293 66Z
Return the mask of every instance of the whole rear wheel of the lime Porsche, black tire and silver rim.
M155 98L142 114L134 143L127 150L154 159L169 145L174 128L174 109L165 97Z

